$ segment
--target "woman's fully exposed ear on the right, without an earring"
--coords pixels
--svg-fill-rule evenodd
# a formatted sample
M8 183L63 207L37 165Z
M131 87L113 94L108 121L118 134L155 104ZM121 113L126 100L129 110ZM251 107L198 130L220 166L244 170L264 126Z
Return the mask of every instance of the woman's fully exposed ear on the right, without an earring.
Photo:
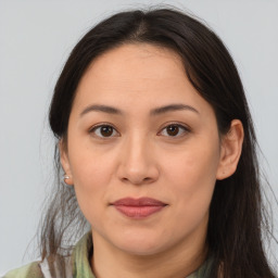
M239 119L231 121L229 131L222 138L220 160L216 179L230 177L237 169L241 155L244 130Z

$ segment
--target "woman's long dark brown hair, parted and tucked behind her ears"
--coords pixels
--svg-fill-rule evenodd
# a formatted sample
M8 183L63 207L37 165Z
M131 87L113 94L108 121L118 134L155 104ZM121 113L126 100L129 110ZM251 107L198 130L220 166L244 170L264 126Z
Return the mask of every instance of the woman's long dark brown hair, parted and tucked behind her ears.
M49 123L59 141L67 124L78 83L90 63L124 43L152 43L174 50L184 62L194 88L214 109L219 134L238 118L244 128L242 154L236 173L217 180L210 208L210 278L275 278L262 242L269 231L262 204L257 141L242 83L222 40L204 24L174 9L135 10L117 13L90 29L73 49L56 83ZM80 237L88 226L79 211L74 189L61 185L60 154L55 151L58 182L42 217L41 257L50 263L71 253L66 242ZM51 266L53 267L53 266Z

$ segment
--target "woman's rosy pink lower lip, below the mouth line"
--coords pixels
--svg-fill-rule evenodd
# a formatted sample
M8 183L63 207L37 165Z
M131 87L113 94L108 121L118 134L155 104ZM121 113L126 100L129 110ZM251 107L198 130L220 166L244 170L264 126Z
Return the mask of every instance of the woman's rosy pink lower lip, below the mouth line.
M128 205L114 205L115 208L122 214L135 218L146 218L154 213L160 212L164 205L147 205L147 206L128 206Z

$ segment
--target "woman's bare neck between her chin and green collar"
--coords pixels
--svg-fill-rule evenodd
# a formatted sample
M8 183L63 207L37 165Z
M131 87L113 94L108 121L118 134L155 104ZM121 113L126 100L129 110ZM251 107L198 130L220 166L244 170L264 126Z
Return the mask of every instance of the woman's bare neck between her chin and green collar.
M167 252L153 255L129 254L106 247L99 235L93 236L92 271L98 278L185 278L195 271L206 258L204 241L192 248L178 244ZM157 267L159 266L159 267Z

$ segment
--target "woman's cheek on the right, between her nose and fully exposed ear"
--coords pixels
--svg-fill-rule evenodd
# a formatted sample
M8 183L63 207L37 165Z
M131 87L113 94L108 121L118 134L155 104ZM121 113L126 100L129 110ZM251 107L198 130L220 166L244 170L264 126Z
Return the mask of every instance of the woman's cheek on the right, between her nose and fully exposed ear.
M182 217L194 216L197 220L207 212L217 167L217 146L207 143L191 146L165 164L166 184L172 185L172 199L178 205L178 212L182 212Z

